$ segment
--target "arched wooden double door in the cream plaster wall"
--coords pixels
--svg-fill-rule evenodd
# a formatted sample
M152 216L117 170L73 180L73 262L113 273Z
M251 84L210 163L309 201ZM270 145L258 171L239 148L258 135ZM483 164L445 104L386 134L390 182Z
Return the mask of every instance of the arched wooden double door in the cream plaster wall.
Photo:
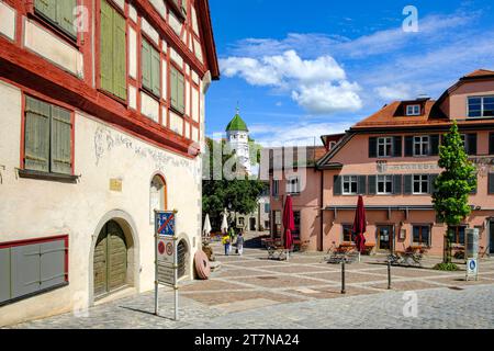
M105 295L127 283L127 245L122 227L110 220L101 229L94 249L94 296Z

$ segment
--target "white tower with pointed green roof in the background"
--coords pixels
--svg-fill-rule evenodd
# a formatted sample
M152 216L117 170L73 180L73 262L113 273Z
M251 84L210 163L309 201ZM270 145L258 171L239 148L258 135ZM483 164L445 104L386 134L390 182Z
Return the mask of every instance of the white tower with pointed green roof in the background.
M240 117L238 107L237 113L226 126L226 139L231 149L237 155L240 165L250 173L249 129Z

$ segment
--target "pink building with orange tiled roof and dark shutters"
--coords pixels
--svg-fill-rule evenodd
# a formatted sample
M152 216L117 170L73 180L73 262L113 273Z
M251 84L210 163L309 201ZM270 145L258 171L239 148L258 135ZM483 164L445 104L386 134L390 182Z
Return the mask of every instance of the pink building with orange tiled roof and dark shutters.
M442 254L447 226L436 218L431 194L441 172L441 135L452 120L478 167L478 189L470 196L472 213L456 228L453 248L464 249L465 229L478 228L480 253L494 253L494 71L487 70L461 78L437 101L393 102L344 136L335 136L336 144L323 137L327 152L305 169L305 186L292 193L303 247L326 251L350 245L357 199L362 194L366 239L372 251L419 247L430 256ZM293 190L287 184L294 182L289 173L283 172L277 185L279 196L271 199L273 217L282 208L283 196ZM272 223L277 235L276 218Z

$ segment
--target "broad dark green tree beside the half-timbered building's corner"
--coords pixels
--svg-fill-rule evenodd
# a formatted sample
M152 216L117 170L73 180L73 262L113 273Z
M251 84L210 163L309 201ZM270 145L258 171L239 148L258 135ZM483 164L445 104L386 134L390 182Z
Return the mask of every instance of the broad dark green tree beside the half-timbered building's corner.
M218 230L223 211L248 214L257 208L257 201L267 184L250 180L236 162L235 154L227 149L226 143L207 138L207 150L203 155L202 211L203 217L210 215L211 225ZM225 166L226 165L226 166ZM234 179L224 177L224 168L233 165ZM232 178L232 177L229 177ZM233 218L229 218L231 220Z

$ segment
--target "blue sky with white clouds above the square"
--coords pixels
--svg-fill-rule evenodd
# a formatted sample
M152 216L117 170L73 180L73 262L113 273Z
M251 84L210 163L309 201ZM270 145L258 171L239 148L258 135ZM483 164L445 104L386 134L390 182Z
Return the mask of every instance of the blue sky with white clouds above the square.
M235 114L266 146L313 144L394 100L494 69L491 1L210 0L222 79L206 134ZM418 32L405 32L406 5Z

